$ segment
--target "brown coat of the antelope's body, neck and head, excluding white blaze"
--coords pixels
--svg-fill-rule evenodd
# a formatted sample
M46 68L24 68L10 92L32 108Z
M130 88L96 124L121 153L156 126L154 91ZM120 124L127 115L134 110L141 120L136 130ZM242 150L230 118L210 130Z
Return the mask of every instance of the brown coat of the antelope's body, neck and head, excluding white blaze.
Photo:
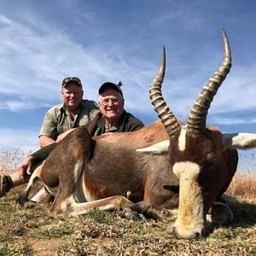
M171 137L169 161L167 154L148 155L136 152L137 148L166 140L166 130L160 121L139 131L92 138L86 129L78 128L68 134L49 154L39 169L38 177L49 189L58 186L52 205L52 210L56 213L78 215L93 207L102 210L124 207L128 208L126 214L131 216L132 209L138 207L141 208L137 211L144 212L143 208L146 208L147 212L153 212L148 210L148 205L157 209L177 208L179 183L172 172L173 164L190 160L204 166L205 161L210 160L214 162L216 171L207 172L207 168L203 169L199 181L207 212L212 201L227 189L237 164L236 150L221 148L220 132L210 130L207 131L207 139L187 136L184 151L179 151L177 137ZM75 202L80 173L84 174L83 183L87 194L85 190L84 193L90 195L87 198L90 202ZM131 193L129 200L125 198L128 191ZM143 204L132 207L132 203L137 202Z

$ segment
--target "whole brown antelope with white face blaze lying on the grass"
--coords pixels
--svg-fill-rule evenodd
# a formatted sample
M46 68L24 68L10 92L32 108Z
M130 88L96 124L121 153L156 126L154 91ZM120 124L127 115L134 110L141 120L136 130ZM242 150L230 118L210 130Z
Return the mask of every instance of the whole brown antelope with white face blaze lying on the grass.
M226 68L226 59L230 61L230 50L225 37L224 42ZM176 223L183 221L183 225L176 226L177 236L201 236L205 213L212 207L212 202L224 193L236 172L237 152L224 148L220 131L211 130L205 125L204 128L199 127L202 121L199 125L195 124L194 111L189 116L188 128L185 128L172 113L166 115L166 107L158 106L159 101L160 105L165 106L160 95L165 68L164 53L160 71L151 85L151 95L158 111L160 109L160 119L165 126L159 120L139 131L99 137L90 137L86 129L78 128L67 135L49 154L44 164L33 172L24 194L28 194L32 180L39 177L55 195L52 210L71 215L84 214L94 207L101 210L123 207L128 218L136 218L134 211L148 213L150 206L156 209L175 209L179 203ZM221 73L219 76L224 79L225 75ZM212 79L210 81L210 84L215 84ZM204 116L206 119L206 113ZM168 135L171 144L169 155L137 152L137 148L168 140ZM255 142L256 136L249 141L249 146L255 146ZM188 172L183 171L182 167L188 168ZM196 173L201 170L208 172L208 175L197 176ZM192 182L194 179L196 183ZM125 197L127 192L130 194L129 200ZM195 196L199 198L197 205ZM185 232L180 231L183 227Z

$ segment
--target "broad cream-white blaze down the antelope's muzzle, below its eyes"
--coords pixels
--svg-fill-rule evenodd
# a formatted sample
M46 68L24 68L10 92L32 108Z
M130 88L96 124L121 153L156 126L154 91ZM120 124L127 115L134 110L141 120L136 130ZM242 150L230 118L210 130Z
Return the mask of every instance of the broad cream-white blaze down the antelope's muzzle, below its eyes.
M198 184L200 166L193 162L177 162L172 168L179 179L178 216L174 224L177 235L191 239L203 230L203 198Z

